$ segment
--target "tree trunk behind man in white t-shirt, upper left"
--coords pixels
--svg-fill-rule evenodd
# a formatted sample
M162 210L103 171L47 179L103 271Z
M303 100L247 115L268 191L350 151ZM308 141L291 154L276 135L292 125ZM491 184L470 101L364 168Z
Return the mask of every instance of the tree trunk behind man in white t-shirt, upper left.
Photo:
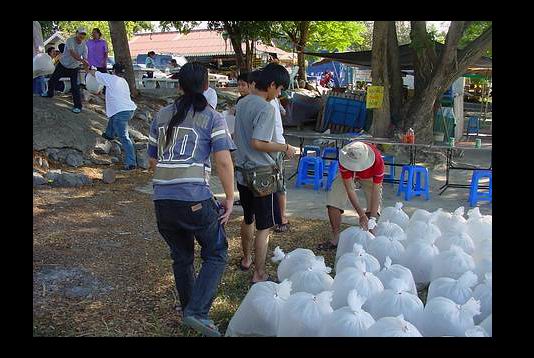
M133 72L132 57L130 55L130 46L128 45L128 35L126 34L126 26L124 21L108 21L111 43L113 44L113 53L115 55L115 62L124 65L126 74L125 79L130 86L130 93L132 97L137 97L139 91L135 86L135 74Z

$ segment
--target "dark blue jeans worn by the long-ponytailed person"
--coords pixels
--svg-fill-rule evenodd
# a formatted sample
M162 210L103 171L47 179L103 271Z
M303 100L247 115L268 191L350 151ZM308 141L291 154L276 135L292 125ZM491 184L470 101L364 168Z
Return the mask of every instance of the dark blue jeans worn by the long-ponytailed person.
M219 223L215 200L201 202L155 200L158 230L173 260L176 289L184 317L208 319L228 257L228 242ZM195 278L195 238L200 244L202 267Z

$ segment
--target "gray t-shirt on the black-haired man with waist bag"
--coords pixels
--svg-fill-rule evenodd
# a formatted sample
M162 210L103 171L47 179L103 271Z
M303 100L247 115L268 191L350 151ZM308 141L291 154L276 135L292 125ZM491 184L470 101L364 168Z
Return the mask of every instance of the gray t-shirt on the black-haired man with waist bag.
M252 169L276 164L277 153L259 152L250 145L252 139L271 142L274 127L274 107L265 98L250 94L237 103L234 131L237 167ZM241 172L238 171L236 176L239 184L244 185Z

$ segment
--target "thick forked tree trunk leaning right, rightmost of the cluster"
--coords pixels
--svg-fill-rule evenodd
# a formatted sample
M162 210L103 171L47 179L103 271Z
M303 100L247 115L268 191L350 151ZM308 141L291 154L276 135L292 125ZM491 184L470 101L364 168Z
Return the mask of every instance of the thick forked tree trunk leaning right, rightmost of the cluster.
M413 100L407 103L409 108L406 114L406 126L414 129L418 142L430 143L432 141L434 109L437 101L454 80L463 75L467 68L491 46L492 28L490 27L465 49L458 50L458 43L464 30L463 21L451 22L445 47L439 59L435 55L435 50L428 51L428 47L425 47L422 51L426 52L426 55L421 55L416 49L416 93ZM426 29L424 31L426 32ZM415 39L419 44L421 40L424 41L428 37L428 34L423 34L420 25L416 24L416 27L412 27L411 36L412 40ZM421 51L420 48L419 50Z

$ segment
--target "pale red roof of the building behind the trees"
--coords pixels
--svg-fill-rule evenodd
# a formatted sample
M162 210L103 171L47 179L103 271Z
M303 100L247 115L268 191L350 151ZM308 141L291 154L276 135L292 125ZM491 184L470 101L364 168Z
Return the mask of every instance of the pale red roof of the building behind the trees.
M230 40L225 42L220 33L210 30L193 30L188 34L178 32L158 32L137 34L129 41L132 57L140 53L155 51L156 53L172 53L182 56L216 56L233 55ZM279 55L291 55L276 47L257 44L260 52L275 52ZM245 45L243 45L245 51Z

